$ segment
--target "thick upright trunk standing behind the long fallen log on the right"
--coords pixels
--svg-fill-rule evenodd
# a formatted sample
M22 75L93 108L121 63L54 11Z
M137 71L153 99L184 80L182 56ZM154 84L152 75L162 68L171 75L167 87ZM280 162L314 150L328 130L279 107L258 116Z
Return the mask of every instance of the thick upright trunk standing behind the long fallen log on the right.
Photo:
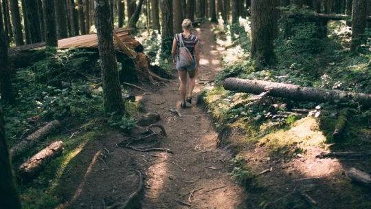
M251 59L258 65L275 65L273 51L273 4L270 0L251 0Z

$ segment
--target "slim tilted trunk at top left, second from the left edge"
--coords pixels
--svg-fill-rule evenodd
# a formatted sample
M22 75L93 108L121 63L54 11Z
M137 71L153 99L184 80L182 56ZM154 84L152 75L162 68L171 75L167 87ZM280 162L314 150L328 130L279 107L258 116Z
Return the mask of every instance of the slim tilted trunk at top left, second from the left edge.
M14 42L16 46L24 45L21 14L19 13L18 0L10 0L10 13L12 14L12 31L14 35Z

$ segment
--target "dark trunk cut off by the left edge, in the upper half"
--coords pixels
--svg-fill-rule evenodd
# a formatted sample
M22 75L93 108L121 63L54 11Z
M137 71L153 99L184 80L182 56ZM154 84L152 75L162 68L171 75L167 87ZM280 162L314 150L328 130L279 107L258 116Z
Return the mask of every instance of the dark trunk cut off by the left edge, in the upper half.
M6 41L5 41L3 19L1 18L2 15L3 14L0 8L0 95L1 95L1 100L4 100L5 102L8 102L9 104L15 104L12 82L10 80L8 46L6 45ZM0 182L0 183L3 183L3 182ZM4 193L1 193L1 194L4 194ZM0 196L3 196L3 195L0 195Z

